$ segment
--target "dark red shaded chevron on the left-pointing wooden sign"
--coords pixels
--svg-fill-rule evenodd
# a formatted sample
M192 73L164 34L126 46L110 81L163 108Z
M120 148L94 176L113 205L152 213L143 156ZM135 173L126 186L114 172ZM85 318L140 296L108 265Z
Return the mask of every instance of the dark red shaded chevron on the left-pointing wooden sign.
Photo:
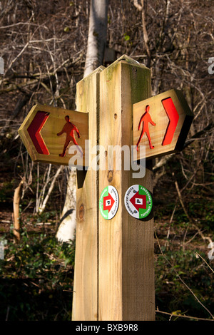
M37 153L42 153L44 155L49 155L49 150L46 147L43 138L41 137L40 131L46 123L47 118L49 118L49 113L38 110L34 116L34 119L29 125L29 128L27 129Z

